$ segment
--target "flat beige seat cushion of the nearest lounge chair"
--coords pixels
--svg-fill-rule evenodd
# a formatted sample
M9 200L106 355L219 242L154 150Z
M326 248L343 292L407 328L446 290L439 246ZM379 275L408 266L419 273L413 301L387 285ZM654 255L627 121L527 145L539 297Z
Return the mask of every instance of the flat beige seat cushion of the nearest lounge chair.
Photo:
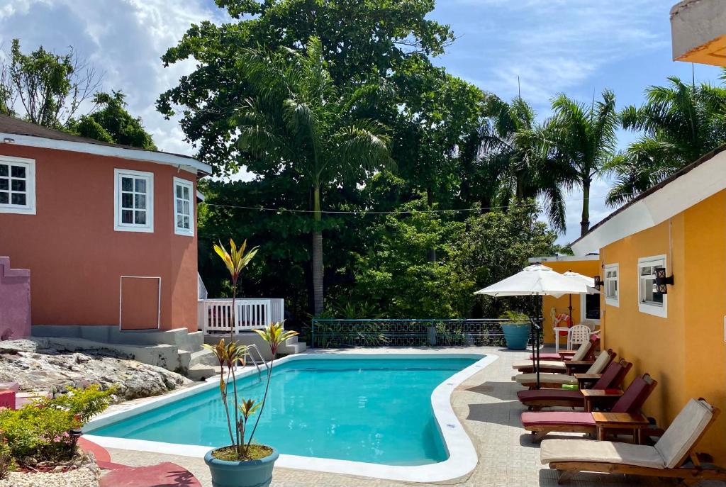
M552 462L599 462L658 469L666 467L655 447L614 441L544 440L539 457L544 465Z

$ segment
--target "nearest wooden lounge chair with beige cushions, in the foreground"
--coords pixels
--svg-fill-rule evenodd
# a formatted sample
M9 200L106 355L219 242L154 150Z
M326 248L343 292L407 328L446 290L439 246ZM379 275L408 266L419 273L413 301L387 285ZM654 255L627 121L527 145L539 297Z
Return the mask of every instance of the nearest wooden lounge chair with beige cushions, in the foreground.
M677 478L687 486L701 480L726 480L726 470L701 465L695 448L719 415L704 399L691 399L655 446L614 441L544 440L542 464L558 470L558 483L578 472Z

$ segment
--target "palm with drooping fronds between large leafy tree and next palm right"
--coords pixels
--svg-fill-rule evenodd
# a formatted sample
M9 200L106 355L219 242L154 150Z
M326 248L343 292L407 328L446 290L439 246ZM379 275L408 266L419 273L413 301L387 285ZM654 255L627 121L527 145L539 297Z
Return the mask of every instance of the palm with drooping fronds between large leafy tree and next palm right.
M480 157L484 171L497 181L497 200L539 198L553 229L563 232L565 202L562 188L573 179L569 165L554 157L544 126L536 123L532 107L521 97L507 103L489 96L481 131Z

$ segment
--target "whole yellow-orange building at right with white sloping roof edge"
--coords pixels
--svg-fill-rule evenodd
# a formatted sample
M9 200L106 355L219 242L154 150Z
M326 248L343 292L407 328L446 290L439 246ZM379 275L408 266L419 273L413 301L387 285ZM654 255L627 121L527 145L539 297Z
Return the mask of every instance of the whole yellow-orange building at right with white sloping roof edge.
M689 398L726 410L726 147L616 210L572 244L600 254L603 348L648 372L645 412L669 425ZM726 418L701 449L726 462Z

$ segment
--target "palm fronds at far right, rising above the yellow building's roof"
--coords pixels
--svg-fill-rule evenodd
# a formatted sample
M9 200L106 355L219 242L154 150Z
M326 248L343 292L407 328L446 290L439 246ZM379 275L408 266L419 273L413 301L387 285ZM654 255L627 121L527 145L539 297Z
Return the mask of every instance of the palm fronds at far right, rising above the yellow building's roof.
M668 79L669 86L645 90L642 107L621 112L624 128L642 131L643 136L608 165L616 178L609 205L632 200L726 142L726 89L684 83L675 76Z

